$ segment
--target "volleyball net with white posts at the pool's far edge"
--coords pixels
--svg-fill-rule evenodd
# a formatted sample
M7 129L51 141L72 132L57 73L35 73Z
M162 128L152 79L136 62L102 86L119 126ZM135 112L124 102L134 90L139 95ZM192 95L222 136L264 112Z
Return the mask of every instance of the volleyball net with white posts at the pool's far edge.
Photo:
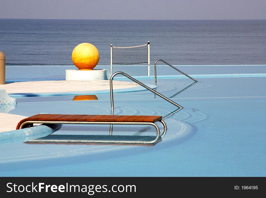
M131 47L116 47L111 44L111 74L113 64L148 63L150 75L150 42L145 45Z

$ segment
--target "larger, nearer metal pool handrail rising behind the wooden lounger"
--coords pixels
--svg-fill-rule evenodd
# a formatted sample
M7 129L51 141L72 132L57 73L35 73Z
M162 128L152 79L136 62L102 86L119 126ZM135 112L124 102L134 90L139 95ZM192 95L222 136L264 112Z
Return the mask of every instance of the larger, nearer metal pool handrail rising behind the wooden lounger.
M156 94L156 95L160 96L161 98L167 100L168 102L172 103L173 105L179 107L179 108L180 108L179 110L181 110L181 109L183 108L183 107L180 106L179 104L177 104L177 103L175 103L174 101L172 101L172 100L168 99L167 97L163 96L161 93L158 93L158 92L154 91L154 90L151 89L150 87L144 85L143 83L141 83L140 81L136 80L135 78L132 78L132 77L129 76L128 74L126 74L126 73L124 73L124 72L122 72L122 71L118 71L118 72L115 72L115 73L111 76L111 78L110 78L110 96L111 96L111 108L112 108L112 109L114 108L114 97L113 97L113 83L112 83L112 80L113 80L114 76L117 75L117 74L122 74L122 75L124 75L125 77L129 78L130 80L133 80L134 82L136 82L136 83L138 83L139 85L143 86L143 87L146 88L147 90L153 92L154 94Z

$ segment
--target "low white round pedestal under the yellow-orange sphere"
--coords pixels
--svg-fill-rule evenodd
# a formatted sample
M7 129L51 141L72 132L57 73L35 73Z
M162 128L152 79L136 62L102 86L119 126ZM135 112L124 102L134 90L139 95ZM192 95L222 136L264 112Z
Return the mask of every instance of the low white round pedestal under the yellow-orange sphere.
M108 69L67 69L66 80L108 80Z

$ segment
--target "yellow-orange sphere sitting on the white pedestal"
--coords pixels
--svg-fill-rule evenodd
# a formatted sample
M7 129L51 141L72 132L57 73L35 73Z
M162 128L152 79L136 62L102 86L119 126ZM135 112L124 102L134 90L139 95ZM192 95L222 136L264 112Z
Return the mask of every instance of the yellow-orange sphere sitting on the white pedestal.
M99 51L90 43L80 43L72 51L72 61L79 70L92 70L98 64Z

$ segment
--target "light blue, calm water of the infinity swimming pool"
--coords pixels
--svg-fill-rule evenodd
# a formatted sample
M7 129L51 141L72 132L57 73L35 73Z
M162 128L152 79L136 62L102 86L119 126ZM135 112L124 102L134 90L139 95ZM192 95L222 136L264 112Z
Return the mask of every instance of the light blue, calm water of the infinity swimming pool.
M48 76L42 66L35 79L31 72L39 66L33 70L30 67L7 67L7 80L62 80L63 72L71 66L47 66L47 70L61 72ZM193 81L189 78L171 68L158 67L156 91L184 107L176 113L176 106L148 90L114 94L114 115L163 116L167 132L161 142L154 146L2 144L0 175L265 177L266 65L176 67L199 81L190 86ZM145 69L126 69L137 80L154 84L154 77L145 76ZM22 71L25 75L20 78ZM130 81L122 76L115 80ZM9 113L110 115L110 94L94 94L97 100L73 101L73 95L18 97L16 108ZM125 133L152 135L154 131L149 127L113 126L113 134ZM63 125L54 134L108 135L109 126Z

